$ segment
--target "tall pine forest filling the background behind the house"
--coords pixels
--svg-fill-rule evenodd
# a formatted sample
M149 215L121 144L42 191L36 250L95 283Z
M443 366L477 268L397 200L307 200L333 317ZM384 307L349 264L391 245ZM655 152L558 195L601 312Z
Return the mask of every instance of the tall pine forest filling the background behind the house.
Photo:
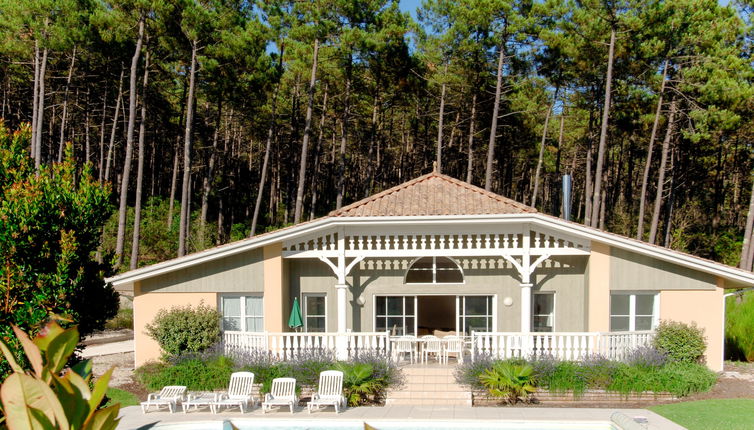
M725 4L722 4L725 3ZM116 270L432 169L752 270L754 1L0 0L0 118L66 145Z

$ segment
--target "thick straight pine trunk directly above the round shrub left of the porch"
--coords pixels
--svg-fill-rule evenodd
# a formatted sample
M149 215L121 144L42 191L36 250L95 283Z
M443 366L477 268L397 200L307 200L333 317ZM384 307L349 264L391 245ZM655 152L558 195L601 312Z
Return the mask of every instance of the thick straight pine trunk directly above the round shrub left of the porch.
M196 85L197 41L191 41L191 66L189 70L189 91L186 102L186 129L183 136L183 182L181 184L181 222L178 227L178 256L186 255L186 241L191 222L189 194L191 193L191 143L194 123L194 88Z

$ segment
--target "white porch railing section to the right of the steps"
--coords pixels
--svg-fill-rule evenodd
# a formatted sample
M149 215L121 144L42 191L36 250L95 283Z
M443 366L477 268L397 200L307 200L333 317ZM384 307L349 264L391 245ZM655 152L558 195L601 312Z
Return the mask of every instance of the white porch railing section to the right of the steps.
M625 358L632 349L646 346L654 332L560 332L499 333L473 332L472 360L479 355L494 358L530 358L552 356L560 360L581 360L599 354L610 360Z

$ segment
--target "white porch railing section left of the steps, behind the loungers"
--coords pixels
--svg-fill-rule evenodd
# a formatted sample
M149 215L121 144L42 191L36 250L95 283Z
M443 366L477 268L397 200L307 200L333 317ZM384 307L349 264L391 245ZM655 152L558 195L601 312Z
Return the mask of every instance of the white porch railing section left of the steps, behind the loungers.
M342 334L226 331L223 349L226 354L261 352L281 360L328 351L350 359L363 354L388 356L390 340L387 331Z

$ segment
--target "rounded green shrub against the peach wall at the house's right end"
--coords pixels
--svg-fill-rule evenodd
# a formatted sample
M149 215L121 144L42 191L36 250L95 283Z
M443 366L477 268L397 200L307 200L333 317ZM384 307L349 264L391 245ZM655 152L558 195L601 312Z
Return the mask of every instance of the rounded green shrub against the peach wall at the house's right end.
M671 361L702 363L707 349L704 329L678 321L662 321L652 345Z

